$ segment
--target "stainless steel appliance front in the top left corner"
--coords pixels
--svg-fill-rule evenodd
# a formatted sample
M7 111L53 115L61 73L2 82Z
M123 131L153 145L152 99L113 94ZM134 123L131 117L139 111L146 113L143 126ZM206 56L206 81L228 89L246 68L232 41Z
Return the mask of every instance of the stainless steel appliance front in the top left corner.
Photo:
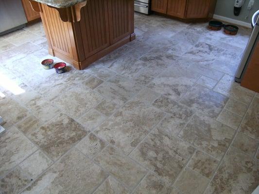
M25 23L21 0L0 0L0 35L22 28Z

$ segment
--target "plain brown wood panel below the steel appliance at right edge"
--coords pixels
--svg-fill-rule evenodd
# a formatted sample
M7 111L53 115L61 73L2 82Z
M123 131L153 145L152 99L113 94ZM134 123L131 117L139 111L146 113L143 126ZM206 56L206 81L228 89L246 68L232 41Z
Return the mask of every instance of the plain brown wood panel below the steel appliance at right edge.
M257 43L247 66L241 85L255 92L259 92L259 43Z

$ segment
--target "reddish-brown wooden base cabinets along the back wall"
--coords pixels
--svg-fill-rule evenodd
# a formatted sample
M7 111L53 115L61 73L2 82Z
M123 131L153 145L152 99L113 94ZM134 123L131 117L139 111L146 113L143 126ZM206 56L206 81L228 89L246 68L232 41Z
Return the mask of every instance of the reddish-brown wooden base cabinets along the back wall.
M154 12L182 19L211 18L216 0L152 0Z

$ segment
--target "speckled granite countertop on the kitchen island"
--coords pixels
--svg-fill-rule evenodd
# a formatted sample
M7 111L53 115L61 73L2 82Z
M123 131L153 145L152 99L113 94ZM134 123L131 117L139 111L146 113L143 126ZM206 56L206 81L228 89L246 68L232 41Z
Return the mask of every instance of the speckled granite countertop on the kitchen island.
M86 0L35 0L35 1L50 5L52 7L65 8L65 7L73 6L77 3L84 2Z

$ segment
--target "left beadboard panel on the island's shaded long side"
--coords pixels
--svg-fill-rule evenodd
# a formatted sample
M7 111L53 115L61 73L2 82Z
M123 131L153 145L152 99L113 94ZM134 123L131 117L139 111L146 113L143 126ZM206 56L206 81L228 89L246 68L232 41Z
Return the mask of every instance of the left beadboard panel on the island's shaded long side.
M89 0L79 23L85 58L110 45L107 0Z

